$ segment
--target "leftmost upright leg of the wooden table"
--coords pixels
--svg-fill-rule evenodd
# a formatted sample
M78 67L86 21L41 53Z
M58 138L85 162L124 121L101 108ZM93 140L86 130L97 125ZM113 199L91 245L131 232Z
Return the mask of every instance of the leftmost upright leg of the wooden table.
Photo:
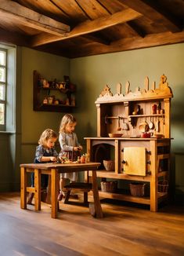
M20 208L27 209L27 171L26 168L20 168Z

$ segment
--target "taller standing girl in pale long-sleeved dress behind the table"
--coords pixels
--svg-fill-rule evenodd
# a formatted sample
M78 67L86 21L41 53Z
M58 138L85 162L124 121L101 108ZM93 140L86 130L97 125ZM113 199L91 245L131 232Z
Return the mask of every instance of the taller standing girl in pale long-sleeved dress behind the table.
M77 125L77 120L73 115L66 114L63 116L63 119L60 123L60 157L67 157L73 161L78 159L78 155L80 155L80 151L82 150L81 144L78 142L77 134L74 133L75 126ZM78 173L64 173L60 174L60 194L58 196L58 200L62 200L64 196L63 188L67 185L67 179L70 181L77 181Z

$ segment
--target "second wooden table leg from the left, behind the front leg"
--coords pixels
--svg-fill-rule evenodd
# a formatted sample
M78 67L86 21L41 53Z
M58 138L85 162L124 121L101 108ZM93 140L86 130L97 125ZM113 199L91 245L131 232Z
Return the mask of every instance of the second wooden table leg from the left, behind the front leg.
M41 210L41 170L34 169L34 207Z

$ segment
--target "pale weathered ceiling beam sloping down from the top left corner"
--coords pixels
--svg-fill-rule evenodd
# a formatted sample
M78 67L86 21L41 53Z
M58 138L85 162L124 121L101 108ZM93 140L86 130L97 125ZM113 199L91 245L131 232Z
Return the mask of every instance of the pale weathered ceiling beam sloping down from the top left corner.
M1 0L0 15L4 16L5 19L8 18L13 22L23 24L39 31L48 32L52 35L59 36L70 31L70 26L53 20L48 16L36 13L10 0Z

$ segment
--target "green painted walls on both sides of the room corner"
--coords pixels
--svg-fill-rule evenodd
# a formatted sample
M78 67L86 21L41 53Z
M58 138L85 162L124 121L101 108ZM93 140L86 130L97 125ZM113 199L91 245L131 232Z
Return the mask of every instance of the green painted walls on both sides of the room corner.
M180 178L182 173L181 155L184 152L182 115L184 107L184 44L137 49L71 60L23 47L20 48L19 56L21 97L18 103L20 135L17 135L17 147L20 146L20 153L17 154L19 158L17 163L33 161L35 147L38 144L41 132L48 127L58 131L60 119L64 115L64 113L58 112L33 111L34 70L48 79L62 80L63 75L70 75L71 82L77 85L76 101L78 107L74 109L73 113L78 119L76 132L84 147L84 137L96 136L95 101L106 84L115 93L117 82L121 82L124 92L126 81L129 81L131 89L135 90L135 87L143 86L146 76L149 77L150 84L155 81L158 85L161 75L164 74L168 77L169 86L171 86L174 94L171 101L171 137L174 138L171 144L174 158L172 169L175 172L173 178L176 176L177 188L184 191L184 181ZM18 115L17 117L19 117ZM20 172L17 167L15 171L16 173Z

